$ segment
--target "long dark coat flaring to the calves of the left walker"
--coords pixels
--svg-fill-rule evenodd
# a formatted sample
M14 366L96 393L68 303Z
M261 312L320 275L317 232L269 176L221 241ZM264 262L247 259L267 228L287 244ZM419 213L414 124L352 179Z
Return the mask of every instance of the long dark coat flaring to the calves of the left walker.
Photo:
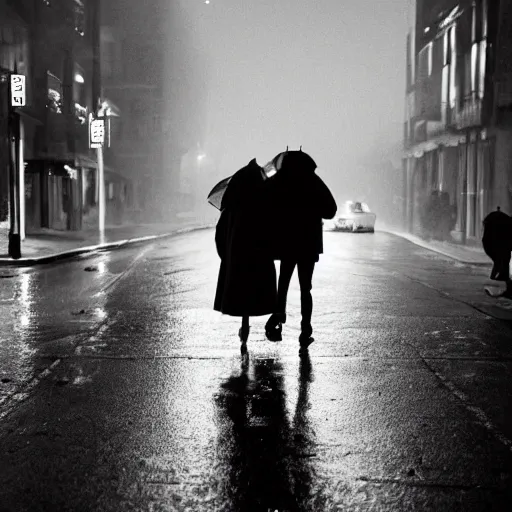
M221 258L214 309L231 316L274 312L276 269L269 251L265 181L252 160L231 179L222 200L215 243Z

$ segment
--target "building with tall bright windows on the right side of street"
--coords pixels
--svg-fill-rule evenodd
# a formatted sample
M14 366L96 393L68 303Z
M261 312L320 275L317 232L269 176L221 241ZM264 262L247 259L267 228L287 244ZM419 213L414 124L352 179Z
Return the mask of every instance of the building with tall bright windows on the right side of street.
M405 226L479 244L490 211L512 213L512 2L417 0L410 20ZM425 226L433 198L443 233Z

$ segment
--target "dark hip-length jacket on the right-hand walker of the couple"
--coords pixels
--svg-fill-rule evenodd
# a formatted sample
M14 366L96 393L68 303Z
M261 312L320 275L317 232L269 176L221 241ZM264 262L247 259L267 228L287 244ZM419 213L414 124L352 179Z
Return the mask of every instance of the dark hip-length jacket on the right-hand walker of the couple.
M332 219L337 205L315 168L312 161L304 165L300 152L290 152L281 169L268 182L276 260L318 261L323 253L322 219Z

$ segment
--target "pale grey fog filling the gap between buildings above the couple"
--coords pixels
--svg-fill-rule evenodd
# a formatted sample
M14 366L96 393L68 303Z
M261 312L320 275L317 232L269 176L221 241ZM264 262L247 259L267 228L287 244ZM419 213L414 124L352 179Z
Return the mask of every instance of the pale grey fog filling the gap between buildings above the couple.
M302 145L339 203L398 215L405 0L178 0L172 18L170 136L181 177L199 173L196 208L250 159Z

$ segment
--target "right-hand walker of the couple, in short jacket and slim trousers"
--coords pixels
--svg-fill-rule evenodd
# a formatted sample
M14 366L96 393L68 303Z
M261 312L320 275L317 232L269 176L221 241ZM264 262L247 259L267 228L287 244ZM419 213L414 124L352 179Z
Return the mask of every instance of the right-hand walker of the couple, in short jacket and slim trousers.
M274 159L277 174L269 181L269 208L274 217L272 249L280 260L276 310L265 325L270 341L282 339L286 300L295 267L301 294L301 349L313 341L311 296L313 272L323 253L322 219L332 219L337 205L331 192L315 173L316 163L302 151L286 151Z

